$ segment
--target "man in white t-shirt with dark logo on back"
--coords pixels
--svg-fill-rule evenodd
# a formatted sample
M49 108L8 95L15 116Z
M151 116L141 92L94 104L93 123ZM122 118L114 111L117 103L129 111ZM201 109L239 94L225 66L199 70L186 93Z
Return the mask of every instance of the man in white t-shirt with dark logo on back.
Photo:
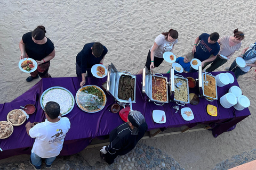
M34 169L41 169L42 158L45 159L46 168L51 168L53 161L60 154L66 133L70 129L67 117L61 117L60 106L54 101L46 103L45 122L32 126L26 124L26 130L31 138L36 138L29 163Z

